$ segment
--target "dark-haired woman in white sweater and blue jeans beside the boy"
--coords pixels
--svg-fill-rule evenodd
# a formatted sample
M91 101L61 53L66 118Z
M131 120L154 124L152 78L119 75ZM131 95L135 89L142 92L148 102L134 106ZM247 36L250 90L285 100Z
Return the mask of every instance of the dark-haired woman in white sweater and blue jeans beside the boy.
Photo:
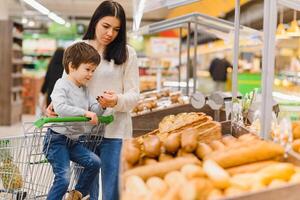
M95 97L103 94L99 102L115 117L114 122L106 127L97 148L102 163L102 199L115 200L119 199L122 139L132 136L129 111L139 100L137 57L134 49L126 44L126 16L122 6L115 1L102 2L92 16L83 40L101 55L101 63L88 85L90 93ZM90 199L96 200L99 194L97 178L93 187Z

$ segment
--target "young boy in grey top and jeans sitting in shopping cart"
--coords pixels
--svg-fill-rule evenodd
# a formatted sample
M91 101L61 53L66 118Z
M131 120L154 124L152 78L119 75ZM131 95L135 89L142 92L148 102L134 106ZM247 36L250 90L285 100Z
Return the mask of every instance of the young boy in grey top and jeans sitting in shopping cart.
M63 58L66 76L58 79L51 99L59 117L86 116L98 124L97 115L103 110L97 100L89 96L87 82L100 63L99 53L90 45L79 42L66 49ZM70 161L84 167L75 190L68 199L81 199L88 194L90 185L99 173L100 159L85 148L81 138L86 127L82 123L49 128L44 141L44 153L55 175L47 200L61 200L70 182Z

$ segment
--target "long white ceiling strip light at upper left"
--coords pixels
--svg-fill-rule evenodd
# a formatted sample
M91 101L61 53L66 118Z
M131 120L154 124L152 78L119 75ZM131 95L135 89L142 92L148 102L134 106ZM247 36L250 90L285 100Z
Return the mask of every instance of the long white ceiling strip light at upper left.
M52 19L56 23L61 25L64 25L66 23L66 21L63 18L59 17L54 12L50 12L48 8L46 8L36 0L23 0L23 1L28 5L30 5L32 8L34 8L35 10L37 10L38 12L42 13L43 15L47 15L50 19Z

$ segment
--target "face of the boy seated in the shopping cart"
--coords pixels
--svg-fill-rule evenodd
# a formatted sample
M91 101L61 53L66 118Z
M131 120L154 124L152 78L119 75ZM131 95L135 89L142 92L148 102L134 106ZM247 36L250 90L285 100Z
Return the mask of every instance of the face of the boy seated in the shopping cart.
M81 63L77 69L70 67L69 76L75 81L76 85L86 85L93 77L96 65L90 63Z

